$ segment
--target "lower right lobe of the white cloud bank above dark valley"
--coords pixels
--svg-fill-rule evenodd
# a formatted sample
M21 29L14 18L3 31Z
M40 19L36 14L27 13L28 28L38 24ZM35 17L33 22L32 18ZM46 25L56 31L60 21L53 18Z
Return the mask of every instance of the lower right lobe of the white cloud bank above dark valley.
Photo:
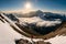
M61 21L42 21L42 22L37 22L36 25L37 26L55 26L61 23L62 23Z

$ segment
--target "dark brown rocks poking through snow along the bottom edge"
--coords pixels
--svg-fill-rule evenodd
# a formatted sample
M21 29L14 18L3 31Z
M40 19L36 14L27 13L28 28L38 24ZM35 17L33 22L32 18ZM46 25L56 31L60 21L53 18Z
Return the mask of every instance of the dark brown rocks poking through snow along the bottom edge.
M28 40L15 40L15 44L51 44L50 42L44 42L44 41L37 41L37 42L29 42Z

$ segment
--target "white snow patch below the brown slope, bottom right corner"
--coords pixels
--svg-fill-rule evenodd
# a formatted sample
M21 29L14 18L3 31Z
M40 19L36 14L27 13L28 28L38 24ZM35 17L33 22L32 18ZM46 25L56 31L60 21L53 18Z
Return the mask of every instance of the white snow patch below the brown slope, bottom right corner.
M52 44L66 44L66 36L55 36L53 38L46 40L45 42L50 42Z

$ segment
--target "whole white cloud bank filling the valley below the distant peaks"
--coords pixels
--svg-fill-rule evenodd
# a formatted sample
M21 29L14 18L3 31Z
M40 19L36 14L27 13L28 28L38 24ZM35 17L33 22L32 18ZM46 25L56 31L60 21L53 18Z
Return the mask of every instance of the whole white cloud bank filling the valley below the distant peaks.
M62 23L62 21L59 21L57 19L55 21L45 21L45 20L42 20L38 16L21 18L20 20L24 24L26 24L26 23L29 23L29 24L35 24L36 26L55 26L55 25Z

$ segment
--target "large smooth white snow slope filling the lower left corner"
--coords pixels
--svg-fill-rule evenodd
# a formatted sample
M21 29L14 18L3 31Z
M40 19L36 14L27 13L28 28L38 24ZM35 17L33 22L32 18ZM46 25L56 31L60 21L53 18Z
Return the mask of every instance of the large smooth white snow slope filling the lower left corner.
M0 44L15 44L15 38L21 38L21 35L13 31L9 23L0 21Z

